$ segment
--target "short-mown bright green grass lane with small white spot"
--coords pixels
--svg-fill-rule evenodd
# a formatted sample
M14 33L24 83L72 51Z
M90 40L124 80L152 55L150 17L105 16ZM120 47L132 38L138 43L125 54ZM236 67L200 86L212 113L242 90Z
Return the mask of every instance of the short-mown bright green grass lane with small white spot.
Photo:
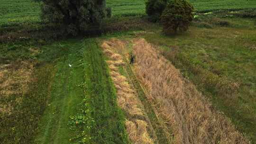
M83 68L76 67L79 60L76 51L80 45L77 40L69 45L67 53L55 65L56 73L50 90L50 100L40 122L36 144L69 144L69 139L74 136L68 122L69 117L79 110L83 96L83 89L79 87L83 82ZM69 67L69 64L72 64L72 67Z

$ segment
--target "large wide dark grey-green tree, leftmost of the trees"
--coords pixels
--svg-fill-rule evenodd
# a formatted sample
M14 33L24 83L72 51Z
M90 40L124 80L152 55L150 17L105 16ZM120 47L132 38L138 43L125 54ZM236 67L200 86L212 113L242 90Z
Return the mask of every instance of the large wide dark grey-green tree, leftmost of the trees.
M105 0L42 0L42 19L63 26L76 35L88 28L100 28L106 14Z

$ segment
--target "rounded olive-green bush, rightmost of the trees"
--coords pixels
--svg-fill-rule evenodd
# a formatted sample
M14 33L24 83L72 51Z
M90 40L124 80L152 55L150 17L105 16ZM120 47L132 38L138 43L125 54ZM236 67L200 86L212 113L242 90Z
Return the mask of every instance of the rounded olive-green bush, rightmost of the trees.
M164 33L171 34L177 31L186 31L193 20L193 6L186 0L171 0L168 2L161 22Z

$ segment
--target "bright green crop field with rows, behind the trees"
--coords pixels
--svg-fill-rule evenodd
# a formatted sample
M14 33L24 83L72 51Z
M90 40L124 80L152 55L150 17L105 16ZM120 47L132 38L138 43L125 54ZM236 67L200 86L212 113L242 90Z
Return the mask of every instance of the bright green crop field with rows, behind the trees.
M255 0L190 0L196 11L255 9ZM107 0L113 16L145 15L145 0ZM1 0L0 26L40 22L40 2Z

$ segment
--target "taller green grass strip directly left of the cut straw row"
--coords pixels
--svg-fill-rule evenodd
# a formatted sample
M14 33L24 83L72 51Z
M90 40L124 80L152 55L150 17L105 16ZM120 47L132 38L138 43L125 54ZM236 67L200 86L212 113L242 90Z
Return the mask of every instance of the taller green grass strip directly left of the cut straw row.
M109 69L95 40L86 40L84 47L85 94L91 123L89 144L128 144L124 114L117 105L117 96Z

